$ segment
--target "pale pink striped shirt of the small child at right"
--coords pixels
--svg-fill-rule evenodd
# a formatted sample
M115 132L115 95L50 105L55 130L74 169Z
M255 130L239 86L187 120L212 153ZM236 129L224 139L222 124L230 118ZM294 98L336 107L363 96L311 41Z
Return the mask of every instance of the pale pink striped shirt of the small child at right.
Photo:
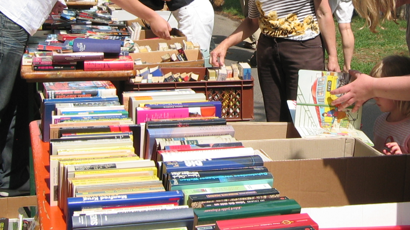
M373 128L375 148L383 152L386 143L397 142L402 153L408 153L407 142L410 139L410 118L398 122L388 122L390 113L381 114L375 121Z

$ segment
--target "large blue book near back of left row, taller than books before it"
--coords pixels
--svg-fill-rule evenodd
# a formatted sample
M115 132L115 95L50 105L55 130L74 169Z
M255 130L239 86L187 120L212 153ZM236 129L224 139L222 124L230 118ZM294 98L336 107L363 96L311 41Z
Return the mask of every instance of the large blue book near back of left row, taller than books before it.
M98 101L113 101L119 102L118 96L104 97L85 97L85 98L52 98L43 100L42 111L42 134L43 141L50 141L50 124L52 123L52 114L57 103L76 103L76 102L98 102Z

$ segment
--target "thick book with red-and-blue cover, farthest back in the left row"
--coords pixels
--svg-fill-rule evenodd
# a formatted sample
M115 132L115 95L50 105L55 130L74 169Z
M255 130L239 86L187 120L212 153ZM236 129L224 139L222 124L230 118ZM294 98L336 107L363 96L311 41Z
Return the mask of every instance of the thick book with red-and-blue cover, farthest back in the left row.
M117 89L111 81L44 82L45 98L74 98L115 96Z

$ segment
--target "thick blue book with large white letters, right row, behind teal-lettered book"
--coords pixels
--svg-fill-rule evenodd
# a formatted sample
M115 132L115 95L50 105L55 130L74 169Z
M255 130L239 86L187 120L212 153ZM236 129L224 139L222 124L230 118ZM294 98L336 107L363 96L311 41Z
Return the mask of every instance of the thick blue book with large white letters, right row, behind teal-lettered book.
M194 152L193 152L194 153ZM224 157L216 159L179 160L163 162L163 172L176 171L204 171L223 168L244 168L263 166L263 160L259 155Z

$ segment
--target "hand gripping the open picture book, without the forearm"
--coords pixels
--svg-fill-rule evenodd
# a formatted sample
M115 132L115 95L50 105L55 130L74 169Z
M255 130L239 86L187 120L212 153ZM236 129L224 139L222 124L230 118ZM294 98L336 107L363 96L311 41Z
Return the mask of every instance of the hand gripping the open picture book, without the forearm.
M349 74L351 74L355 80L330 92L332 95L344 94L334 100L332 105L340 104L338 109L343 110L356 102L354 108L352 109L352 112L356 112L364 102L374 98L373 84L375 78L355 70L350 70Z

